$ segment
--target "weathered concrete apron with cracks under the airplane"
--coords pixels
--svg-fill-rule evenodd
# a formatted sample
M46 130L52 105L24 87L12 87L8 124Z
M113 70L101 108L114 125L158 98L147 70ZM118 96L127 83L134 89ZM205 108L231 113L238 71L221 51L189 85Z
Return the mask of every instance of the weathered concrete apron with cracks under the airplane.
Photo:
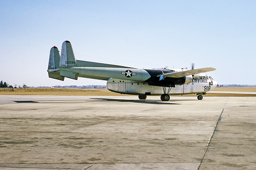
M256 97L0 96L3 169L253 169Z

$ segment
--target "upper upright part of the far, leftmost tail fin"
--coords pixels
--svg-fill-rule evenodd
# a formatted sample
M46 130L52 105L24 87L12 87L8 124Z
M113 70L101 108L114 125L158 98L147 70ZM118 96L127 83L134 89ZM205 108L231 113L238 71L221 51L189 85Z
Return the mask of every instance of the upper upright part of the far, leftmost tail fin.
M48 64L48 70L57 69L59 67L59 50L57 47L52 47L50 51L50 57L49 57L49 64Z

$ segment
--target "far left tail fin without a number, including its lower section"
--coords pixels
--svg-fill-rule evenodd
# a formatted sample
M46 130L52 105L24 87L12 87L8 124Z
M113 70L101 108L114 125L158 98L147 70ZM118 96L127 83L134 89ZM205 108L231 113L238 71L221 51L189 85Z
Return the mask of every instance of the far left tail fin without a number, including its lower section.
M48 75L50 78L57 80L64 80L64 77L60 76L59 68L60 55L57 47L52 47L50 51Z

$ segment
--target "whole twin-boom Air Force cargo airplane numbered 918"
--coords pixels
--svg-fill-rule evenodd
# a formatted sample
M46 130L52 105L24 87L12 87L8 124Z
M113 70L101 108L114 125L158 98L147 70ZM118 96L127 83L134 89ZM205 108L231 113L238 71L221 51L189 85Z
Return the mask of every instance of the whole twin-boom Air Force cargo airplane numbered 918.
M112 64L76 60L69 41L64 41L61 54L56 46L50 50L49 78L62 80L78 77L106 80L108 90L121 94L138 95L145 100L149 95L160 95L168 101L169 95L196 94L202 100L207 91L214 89L217 82L206 74L215 68L192 69L138 69Z

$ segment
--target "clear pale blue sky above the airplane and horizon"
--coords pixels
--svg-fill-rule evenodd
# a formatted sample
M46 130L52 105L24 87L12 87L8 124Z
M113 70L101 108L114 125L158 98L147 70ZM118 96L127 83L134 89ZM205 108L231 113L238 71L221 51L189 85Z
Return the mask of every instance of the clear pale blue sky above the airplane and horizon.
M106 85L48 78L50 48L136 68L214 67L219 84L256 84L256 1L0 1L0 79L11 85Z

